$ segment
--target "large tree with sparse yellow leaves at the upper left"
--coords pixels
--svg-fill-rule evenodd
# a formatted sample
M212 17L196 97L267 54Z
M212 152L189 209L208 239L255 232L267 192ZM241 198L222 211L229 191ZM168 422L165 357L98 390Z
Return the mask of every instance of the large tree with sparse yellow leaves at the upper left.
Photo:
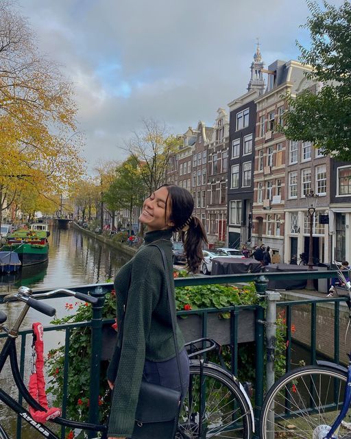
M36 37L13 3L1 0L0 187L25 182L47 196L71 185L84 170L75 114L71 83L38 53Z

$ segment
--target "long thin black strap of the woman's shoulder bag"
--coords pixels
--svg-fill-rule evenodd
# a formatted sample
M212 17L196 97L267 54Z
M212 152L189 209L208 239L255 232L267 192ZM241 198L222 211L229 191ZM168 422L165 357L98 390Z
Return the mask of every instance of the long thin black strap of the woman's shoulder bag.
M171 323L172 323L172 332L173 332L173 342L174 342L174 349L175 349L175 357L177 359L177 365L178 365L178 373L179 373L179 379L180 384L183 386L182 382L182 373L180 369L180 358L179 358L179 352L178 352L178 337L177 337L177 330L176 330L176 316L175 316L175 307L173 307L173 301L172 301L172 294L171 294L171 283L169 281L169 276L167 274L167 262L166 262L166 255L162 248L156 246L156 244L149 244L149 246L157 247L158 250L160 250L161 256L162 256L162 262L163 262L163 268L165 268L165 275L166 275L166 285L167 285L167 297L168 297L168 304L169 304L169 313L171 314ZM132 266L133 268L133 266ZM130 276L130 281L128 285L128 291L125 298L125 305L124 305L124 312L123 316L121 318L121 322L119 323L119 331L118 331L118 338L117 338L117 346L119 348L122 347L122 340L123 340L123 326L124 326L124 318L125 318L125 310L127 309L127 303L128 303L128 292L130 289L130 283L131 283L132 275Z

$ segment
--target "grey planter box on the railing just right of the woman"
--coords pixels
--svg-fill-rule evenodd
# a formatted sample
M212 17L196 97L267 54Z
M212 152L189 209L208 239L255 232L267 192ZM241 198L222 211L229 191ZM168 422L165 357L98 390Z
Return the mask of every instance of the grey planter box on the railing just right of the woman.
M255 311L243 309L235 318L239 319L237 343L254 342ZM192 314L186 318L178 317L178 325L186 343L202 338L201 316ZM221 318L220 313L208 313L206 337L213 338L220 344L230 344L230 318Z

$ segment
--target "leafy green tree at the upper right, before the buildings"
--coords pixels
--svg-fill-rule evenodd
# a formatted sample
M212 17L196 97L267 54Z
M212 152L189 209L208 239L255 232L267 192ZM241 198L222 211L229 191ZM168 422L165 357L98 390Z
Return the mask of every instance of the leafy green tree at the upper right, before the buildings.
M313 68L307 73L317 90L288 97L282 131L288 139L311 141L341 161L351 160L351 3L339 8L324 1L307 1L311 16L303 26L311 48L297 42L299 60Z

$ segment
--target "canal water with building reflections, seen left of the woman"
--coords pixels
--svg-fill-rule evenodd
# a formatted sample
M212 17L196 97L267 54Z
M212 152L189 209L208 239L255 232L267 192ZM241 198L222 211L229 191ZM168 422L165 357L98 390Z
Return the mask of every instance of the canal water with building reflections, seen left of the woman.
M119 253L114 248L80 233L80 230L68 228L51 228L49 241L49 261L40 265L23 268L21 272L15 275L0 276L0 294L16 292L21 285L35 288L56 289L58 287L74 287L90 283L104 283L108 279L113 279L119 268L130 259L124 254ZM66 315L68 311L65 307L66 302L76 302L75 298L49 299L46 302L56 308L58 318ZM10 304L0 305L1 311L8 315L6 325L8 327L16 320L22 303L12 302ZM30 309L22 329L32 327L33 322L42 322L44 325L49 324L51 318L34 309ZM57 346L60 342L60 333L50 332L45 334L45 353L50 348ZM28 337L29 338L29 337ZM3 346L5 339L0 339L0 348ZM31 340L27 340L27 355L30 355ZM25 381L29 376L29 358L25 362ZM16 387L12 380L10 367L8 364L0 375L0 388L10 392L16 397ZM14 437L14 425L16 417L10 416L10 411L0 403L0 422ZM34 429L23 431L23 439L34 438L36 433ZM39 436L39 435L37 435ZM40 436L41 437L41 436Z

